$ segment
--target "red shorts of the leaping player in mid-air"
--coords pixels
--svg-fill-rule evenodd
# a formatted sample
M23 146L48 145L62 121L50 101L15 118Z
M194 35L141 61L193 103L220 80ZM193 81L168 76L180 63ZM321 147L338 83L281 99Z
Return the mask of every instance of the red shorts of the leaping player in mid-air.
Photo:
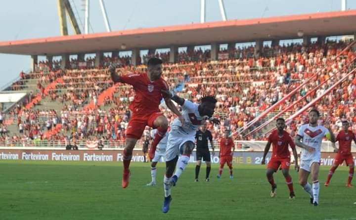
M153 128L153 122L159 116L163 115L161 112L150 114L133 114L130 119L128 128L126 130L126 137L140 139L146 126Z

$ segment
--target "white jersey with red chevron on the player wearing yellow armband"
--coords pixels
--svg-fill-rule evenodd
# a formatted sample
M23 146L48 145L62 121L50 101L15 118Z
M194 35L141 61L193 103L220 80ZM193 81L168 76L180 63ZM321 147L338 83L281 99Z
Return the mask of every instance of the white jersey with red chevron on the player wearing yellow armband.
M302 149L301 160L311 160L321 158L321 141L323 137L329 133L329 130L324 126L311 127L309 124L302 125L299 130L299 136L303 137L303 143L314 148L310 153L306 149Z

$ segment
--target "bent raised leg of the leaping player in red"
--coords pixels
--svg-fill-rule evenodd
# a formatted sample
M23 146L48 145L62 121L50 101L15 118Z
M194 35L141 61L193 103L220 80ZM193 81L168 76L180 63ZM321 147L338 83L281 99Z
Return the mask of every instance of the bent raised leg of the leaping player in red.
M153 125L150 125L150 121L153 121ZM151 144L151 148L149 150L149 157L153 159L157 144L166 135L166 132L168 130L168 120L164 115L162 115L162 113L157 113L149 119L148 125L157 129L157 132Z

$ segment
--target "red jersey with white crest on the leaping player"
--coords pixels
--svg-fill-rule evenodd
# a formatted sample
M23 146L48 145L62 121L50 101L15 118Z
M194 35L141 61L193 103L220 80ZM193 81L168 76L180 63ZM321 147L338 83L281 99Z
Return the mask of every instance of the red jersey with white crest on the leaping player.
M134 113L149 114L159 112L159 104L162 97L167 95L162 94L161 90L168 90L167 82L160 78L151 82L146 73L128 74L120 76L121 82L130 84L134 87L134 101L130 104L130 109Z

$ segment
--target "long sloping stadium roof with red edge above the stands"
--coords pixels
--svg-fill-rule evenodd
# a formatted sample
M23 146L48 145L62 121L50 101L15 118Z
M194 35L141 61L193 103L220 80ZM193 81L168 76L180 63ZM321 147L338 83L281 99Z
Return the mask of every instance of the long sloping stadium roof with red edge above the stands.
M0 42L0 53L60 55L122 50L122 44L126 44L127 49L166 48L170 45L295 39L299 30L305 36L352 35L356 33L354 24L356 10L333 11L7 41Z

